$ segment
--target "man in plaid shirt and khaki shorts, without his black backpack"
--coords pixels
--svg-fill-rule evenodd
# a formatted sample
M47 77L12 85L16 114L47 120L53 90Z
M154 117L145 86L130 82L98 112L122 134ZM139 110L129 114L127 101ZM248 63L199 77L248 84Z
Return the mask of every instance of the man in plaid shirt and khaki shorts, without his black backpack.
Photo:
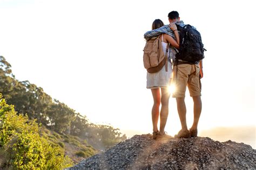
M164 25L159 29L147 31L144 34L145 39L150 39L156 37L162 33L166 33L174 37L173 31L170 26L176 23L180 26L185 26L183 21L180 21L179 13L177 11L172 11L168 15L169 25ZM181 40L180 40L181 41ZM190 138L197 137L197 126L199 117L201 114L201 82L200 78L203 78L203 63L200 62L186 62L184 60L176 60L177 50L170 46L169 52L173 60L173 83L176 85L176 91L173 92L172 97L176 98L177 108L181 123L181 130L175 135L176 138ZM200 75L200 76L199 76ZM185 92L186 87L190 91L190 96L193 98L194 102L194 121L190 130L187 129L186 123L186 104L185 104Z

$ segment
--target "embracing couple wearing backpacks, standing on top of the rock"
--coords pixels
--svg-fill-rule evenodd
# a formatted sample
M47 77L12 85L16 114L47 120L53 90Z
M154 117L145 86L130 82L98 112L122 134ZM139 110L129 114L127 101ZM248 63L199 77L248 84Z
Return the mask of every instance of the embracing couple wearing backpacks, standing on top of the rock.
M160 19L156 19L152 24L152 30L147 31L144 34L144 38L147 40L143 57L144 66L147 69L146 87L147 89L151 89L154 100L152 107L153 138L172 138L164 131L169 114L169 86L171 84L176 88L172 97L176 98L182 127L174 138L197 137L197 126L202 108L200 79L203 78L203 65L201 61L201 59L204 58L203 44L201 43L200 33L196 31L196 28L193 26L186 26L183 21L180 21L179 13L177 11L170 12L168 17L170 22L169 25L164 25ZM196 34L193 32L191 33L191 31L196 32ZM187 34L187 32L190 33L191 36L194 35L194 37L197 37L195 43L193 41L192 43L189 42L186 35L183 35L185 38L181 36L182 33ZM199 39L197 32L199 33ZM180 37L183 39L180 39ZM190 43L191 45L187 47L186 45ZM183 46L181 46L181 44L183 44ZM156 61L159 62L161 60L163 62L154 64L156 61L152 59L153 54L152 51L150 54L149 48L151 47L153 49L156 45L161 46L160 51L153 52L158 53ZM181 47L183 49L181 49ZM162 55L161 51L163 53ZM189 53L190 51L196 51L194 52L196 53L196 57L193 56L193 53ZM159 56L162 58L164 57L164 59L159 59ZM156 56L154 57L156 58ZM186 105L184 101L186 87L188 87L190 96L193 98L194 102L194 121L189 130L186 124ZM159 112L160 104L161 108ZM157 124L159 115L160 128L158 130Z

